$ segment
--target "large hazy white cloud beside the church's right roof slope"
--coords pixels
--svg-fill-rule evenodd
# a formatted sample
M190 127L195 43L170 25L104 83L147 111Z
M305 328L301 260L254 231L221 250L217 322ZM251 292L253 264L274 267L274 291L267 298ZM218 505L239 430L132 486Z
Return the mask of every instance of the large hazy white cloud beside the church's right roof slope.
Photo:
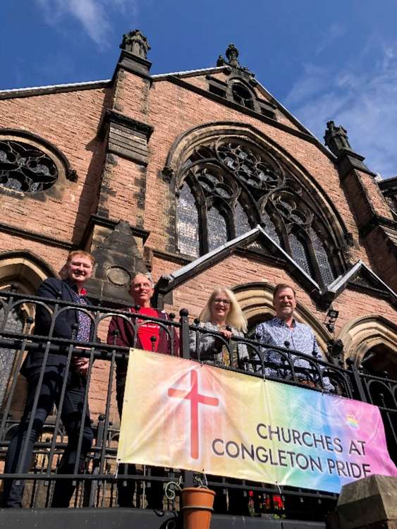
M349 67L305 65L287 107L322 140L326 121L347 128L350 145L372 171L397 174L397 47L379 47Z

